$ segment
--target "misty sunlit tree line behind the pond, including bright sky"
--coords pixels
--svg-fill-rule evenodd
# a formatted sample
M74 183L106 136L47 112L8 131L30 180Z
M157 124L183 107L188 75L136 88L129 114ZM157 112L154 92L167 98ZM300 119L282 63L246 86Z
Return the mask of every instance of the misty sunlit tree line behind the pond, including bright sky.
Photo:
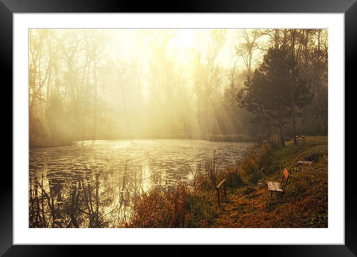
M30 138L327 131L326 29L113 31L29 30Z

